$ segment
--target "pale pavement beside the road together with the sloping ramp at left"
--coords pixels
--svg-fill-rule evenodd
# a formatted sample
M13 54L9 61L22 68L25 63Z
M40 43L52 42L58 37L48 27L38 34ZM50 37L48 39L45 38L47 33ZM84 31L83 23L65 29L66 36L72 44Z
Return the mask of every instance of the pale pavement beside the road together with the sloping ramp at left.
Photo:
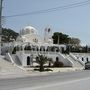
M19 66L12 65L10 62L0 57L0 79L20 78L29 76L49 75L57 72L72 72L83 70L83 67L64 67L64 68L49 68L53 71L39 72L34 71L34 68L20 68Z

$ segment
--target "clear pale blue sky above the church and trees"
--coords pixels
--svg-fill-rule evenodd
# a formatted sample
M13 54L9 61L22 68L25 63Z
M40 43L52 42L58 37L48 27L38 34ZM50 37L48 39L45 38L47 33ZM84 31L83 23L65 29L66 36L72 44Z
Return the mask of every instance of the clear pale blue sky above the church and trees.
M87 0L4 0L3 16L46 10L83 1ZM17 32L30 25L35 27L39 34L50 25L53 32L63 32L90 45L90 4L42 14L6 17L3 24L4 27Z

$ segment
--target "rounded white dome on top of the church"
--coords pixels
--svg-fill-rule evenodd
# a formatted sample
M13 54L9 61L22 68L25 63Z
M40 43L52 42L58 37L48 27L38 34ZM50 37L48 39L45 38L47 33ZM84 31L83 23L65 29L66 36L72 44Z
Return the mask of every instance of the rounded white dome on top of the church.
M32 26L26 26L25 28L23 28L21 31L20 31L20 34L21 35L26 35L26 34L37 34L37 30L32 27Z

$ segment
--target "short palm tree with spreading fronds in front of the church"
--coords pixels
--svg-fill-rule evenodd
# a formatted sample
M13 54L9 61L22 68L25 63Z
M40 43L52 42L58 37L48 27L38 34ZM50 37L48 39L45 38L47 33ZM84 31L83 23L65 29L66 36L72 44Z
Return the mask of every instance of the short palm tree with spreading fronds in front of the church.
M48 61L48 58L45 55L40 55L38 54L38 56L36 57L36 62L39 64L40 66L40 71L44 71L44 64L46 64Z

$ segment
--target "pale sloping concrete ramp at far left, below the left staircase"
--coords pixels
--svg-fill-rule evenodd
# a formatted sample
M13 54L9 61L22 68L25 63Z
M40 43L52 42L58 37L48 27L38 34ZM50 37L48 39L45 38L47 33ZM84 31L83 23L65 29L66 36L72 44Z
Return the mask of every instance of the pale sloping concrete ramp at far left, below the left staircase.
M0 73L2 74L22 74L24 71L11 62L0 57Z

